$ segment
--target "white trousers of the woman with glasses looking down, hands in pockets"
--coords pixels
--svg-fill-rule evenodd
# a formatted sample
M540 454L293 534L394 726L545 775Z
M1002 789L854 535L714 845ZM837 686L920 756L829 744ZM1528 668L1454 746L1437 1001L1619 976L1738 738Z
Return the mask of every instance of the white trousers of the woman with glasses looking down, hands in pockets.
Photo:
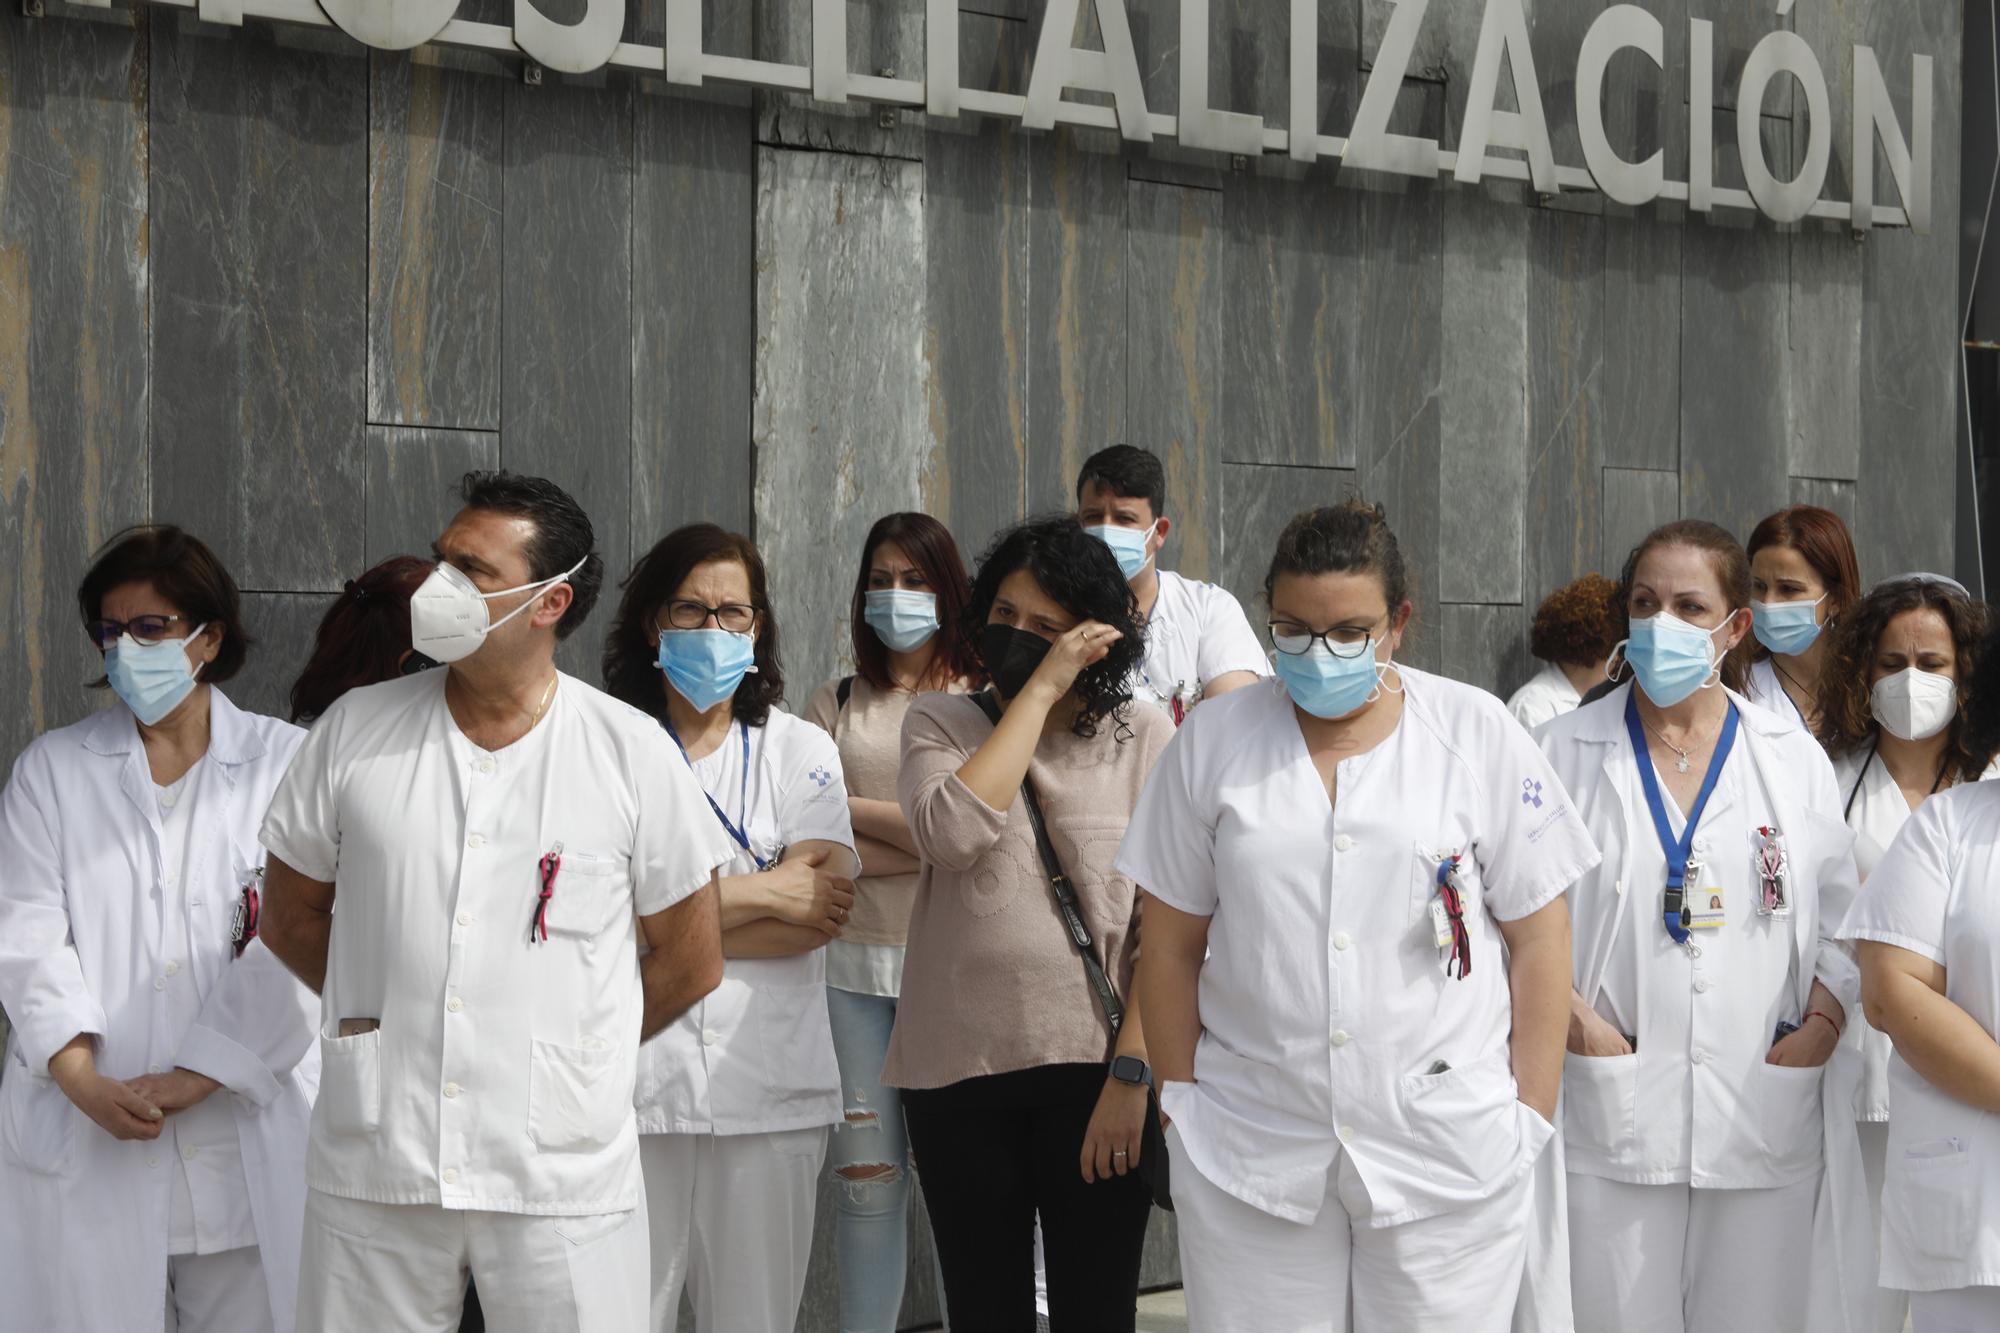
M1456 1213L1356 1227L1366 1193L1342 1153L1326 1173L1320 1215L1300 1225L1216 1189L1174 1129L1166 1143L1192 1333L1508 1333L1526 1259L1528 1177Z

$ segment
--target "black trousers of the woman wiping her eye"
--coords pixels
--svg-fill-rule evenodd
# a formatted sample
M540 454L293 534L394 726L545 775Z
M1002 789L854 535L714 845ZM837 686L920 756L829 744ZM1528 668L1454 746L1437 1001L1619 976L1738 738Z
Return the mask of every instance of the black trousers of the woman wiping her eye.
M904 1091L952 1333L1034 1329L1036 1213L1050 1333L1132 1333L1152 1195L1136 1173L1084 1183L1104 1077L1104 1065L1046 1065Z

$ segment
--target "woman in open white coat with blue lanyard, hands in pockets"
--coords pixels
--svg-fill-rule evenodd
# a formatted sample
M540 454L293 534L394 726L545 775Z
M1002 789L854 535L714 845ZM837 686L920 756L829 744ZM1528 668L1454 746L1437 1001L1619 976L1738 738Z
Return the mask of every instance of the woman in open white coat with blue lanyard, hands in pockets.
M1712 522L1646 536L1604 699L1536 739L1604 853L1570 889L1562 1073L1580 1333L1804 1333L1822 1199L1848 1181L1820 1079L1858 1005L1834 931L1854 901L1834 771L1748 707L1730 650L1750 562Z

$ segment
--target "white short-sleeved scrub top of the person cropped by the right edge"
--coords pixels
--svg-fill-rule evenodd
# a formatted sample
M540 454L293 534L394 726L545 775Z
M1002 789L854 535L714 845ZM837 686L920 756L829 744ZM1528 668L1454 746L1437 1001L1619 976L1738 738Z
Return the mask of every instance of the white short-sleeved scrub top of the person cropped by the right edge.
M1908 949L1944 967L1944 995L2000 1039L2000 783L1938 793L1868 877L1842 939ZM1890 1059L1882 1181L1882 1285L2000 1285L2000 1117Z

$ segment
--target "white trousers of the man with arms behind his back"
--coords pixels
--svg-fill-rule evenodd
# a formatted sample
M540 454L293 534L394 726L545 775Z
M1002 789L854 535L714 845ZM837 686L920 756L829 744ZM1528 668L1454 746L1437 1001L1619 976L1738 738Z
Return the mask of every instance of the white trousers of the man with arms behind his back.
M538 1217L306 1191L298 1333L454 1333L468 1273L492 1333L646 1333L646 1203Z

